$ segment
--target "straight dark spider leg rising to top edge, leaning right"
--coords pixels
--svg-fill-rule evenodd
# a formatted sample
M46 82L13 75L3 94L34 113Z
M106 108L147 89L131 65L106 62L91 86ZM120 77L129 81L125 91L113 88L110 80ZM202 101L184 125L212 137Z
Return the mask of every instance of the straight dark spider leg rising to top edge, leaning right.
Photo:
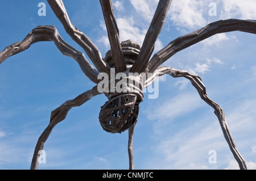
M130 70L131 72L142 73L147 68L148 60L153 53L155 41L163 28L164 20L166 19L166 15L171 5L171 2L171 0L159 1L150 27L148 28L148 31L144 38L139 56Z

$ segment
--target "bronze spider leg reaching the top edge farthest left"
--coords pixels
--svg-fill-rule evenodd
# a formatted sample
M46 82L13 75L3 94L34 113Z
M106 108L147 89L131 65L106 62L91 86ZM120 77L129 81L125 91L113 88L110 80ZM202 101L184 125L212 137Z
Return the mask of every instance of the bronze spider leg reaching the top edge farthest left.
M49 5L51 6L53 12L63 24L65 31L69 36L72 37L77 44L79 44L88 54L90 60L93 61L93 64L96 66L98 71L105 72L110 74L110 68L104 62L100 50L92 43L92 41L80 30L78 30L69 19L68 13L65 9L65 6L62 0L47 0Z

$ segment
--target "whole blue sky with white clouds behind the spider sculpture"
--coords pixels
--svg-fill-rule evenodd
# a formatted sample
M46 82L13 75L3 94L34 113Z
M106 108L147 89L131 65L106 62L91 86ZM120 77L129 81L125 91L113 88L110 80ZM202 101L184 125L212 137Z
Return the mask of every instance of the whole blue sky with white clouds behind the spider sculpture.
M46 16L38 3L46 3ZM109 50L99 1L65 1L71 22L104 56ZM216 16L208 6L216 3ZM158 1L113 0L120 40L142 44ZM36 26L54 25L61 37L82 49L67 35L47 1L0 1L0 49L21 41ZM155 52L176 37L220 19L256 19L254 0L173 0ZM256 36L243 32L214 35L175 54L164 65L199 74L208 96L220 104L234 141L248 169L256 169ZM89 58L88 58L89 60ZM38 137L51 111L66 100L92 89L93 82L72 58L52 42L40 42L0 65L0 169L29 169ZM164 75L159 96L140 104L134 133L135 169L238 169L213 109L200 99L185 78ZM128 133L111 134L98 123L99 95L72 108L49 136L46 163L39 169L128 169ZM209 163L216 150L217 163Z

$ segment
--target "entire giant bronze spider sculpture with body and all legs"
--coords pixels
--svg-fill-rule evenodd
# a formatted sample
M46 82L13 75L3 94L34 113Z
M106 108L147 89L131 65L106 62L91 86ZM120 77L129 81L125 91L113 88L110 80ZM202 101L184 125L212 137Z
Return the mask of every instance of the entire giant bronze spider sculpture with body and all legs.
M139 103L143 101L142 91L145 87L151 85L156 78L164 74L170 74L174 78L185 77L191 81L192 85L199 92L201 99L214 109L224 137L240 169L246 169L245 161L237 150L232 134L229 131L224 111L217 103L209 99L201 78L185 70L177 70L160 65L180 50L217 33L230 31L256 33L255 20L227 19L210 23L204 28L171 41L170 44L151 57L155 41L162 30L167 11L171 5L171 0L159 0L154 17L152 18L141 47L131 40L123 41L122 43L119 42L119 31L114 18L112 1L100 0L111 47L109 52L106 53L105 58L103 58L92 41L73 26L69 20L63 2L61 0L47 1L57 18L63 24L65 31L85 50L86 54L88 54L89 58L96 66L96 69L86 60L84 53L71 47L71 45L67 44L60 37L54 26L38 26L32 30L23 41L6 47L3 52L0 52L0 64L5 61L6 58L28 49L30 45L38 41L54 41L61 53L77 61L86 77L96 83L96 86L80 94L75 99L68 100L61 104L60 107L51 112L49 125L41 134L35 146L31 169L38 169L38 159L40 157L40 151L44 147L44 143L55 125L65 119L68 111L71 110L72 107L81 106L87 100L93 98L93 96L103 93L108 97L108 102L101 107L99 116L100 124L105 131L110 133L121 133L129 129L129 169L134 169L133 133L135 124L137 123ZM111 75L112 68L115 70L114 76ZM122 73L123 80L126 80L126 82L122 82L121 85L118 85L119 82L113 79L118 73ZM148 73L150 73L150 76L145 76L145 74L148 75ZM107 83L102 85L99 77L109 78L107 79ZM118 86L119 89L117 89ZM114 89L114 91L111 91L112 89Z

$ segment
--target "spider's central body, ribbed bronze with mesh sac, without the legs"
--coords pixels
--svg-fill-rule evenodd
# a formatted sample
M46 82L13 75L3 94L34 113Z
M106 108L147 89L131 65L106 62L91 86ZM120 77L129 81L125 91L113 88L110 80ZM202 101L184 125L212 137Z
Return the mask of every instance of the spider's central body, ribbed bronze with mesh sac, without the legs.
M114 76L110 77L108 92L105 92L109 100L101 107L99 116L102 128L110 133L121 133L134 125L137 122L139 103L143 100L142 77L129 72L138 56L139 44L127 40L121 43L121 47L127 71L121 73L121 79L117 78L119 73L113 73ZM106 53L105 62L114 68L110 51Z

